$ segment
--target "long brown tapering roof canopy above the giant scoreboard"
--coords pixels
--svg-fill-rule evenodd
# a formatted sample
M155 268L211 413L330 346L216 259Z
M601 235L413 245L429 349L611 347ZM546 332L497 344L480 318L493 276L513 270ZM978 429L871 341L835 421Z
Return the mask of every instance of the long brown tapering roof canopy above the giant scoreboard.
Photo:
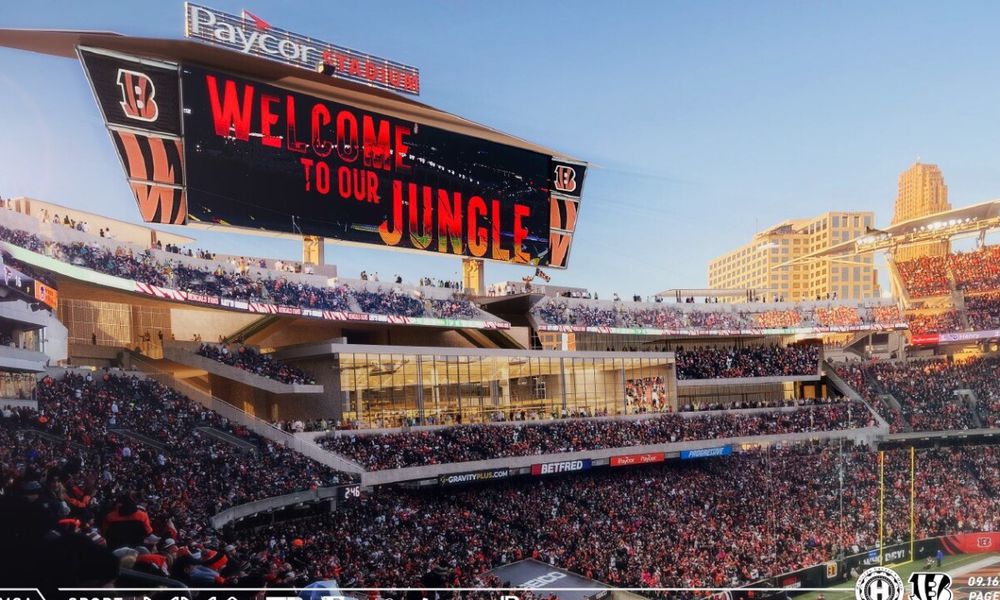
M209 65L359 108L516 148L577 160L412 98L193 40L133 37L109 31L0 29L0 46L74 60L77 58L77 46L91 46L148 58Z

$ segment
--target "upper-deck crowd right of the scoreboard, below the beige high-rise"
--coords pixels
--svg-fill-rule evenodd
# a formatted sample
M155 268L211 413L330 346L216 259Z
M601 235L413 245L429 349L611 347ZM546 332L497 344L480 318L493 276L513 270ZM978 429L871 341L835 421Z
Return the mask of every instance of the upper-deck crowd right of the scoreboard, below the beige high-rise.
M532 314L546 325L582 327L650 328L667 330L757 330L795 327L852 327L866 324L891 326L902 322L895 306L807 306L761 310L682 310L657 303L655 306L623 302L587 302L562 297L545 298Z

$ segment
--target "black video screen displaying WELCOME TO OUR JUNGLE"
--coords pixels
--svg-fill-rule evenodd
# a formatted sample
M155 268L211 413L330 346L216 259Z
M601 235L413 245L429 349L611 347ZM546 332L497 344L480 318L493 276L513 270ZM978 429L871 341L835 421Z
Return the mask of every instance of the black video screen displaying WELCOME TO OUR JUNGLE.
M181 72L189 222L550 263L550 156Z

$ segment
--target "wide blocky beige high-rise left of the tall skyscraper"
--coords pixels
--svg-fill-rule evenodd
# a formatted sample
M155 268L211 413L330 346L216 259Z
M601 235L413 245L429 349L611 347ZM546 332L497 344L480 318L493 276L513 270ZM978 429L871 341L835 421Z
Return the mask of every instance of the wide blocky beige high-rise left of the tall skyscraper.
M708 265L708 286L754 289L768 299L778 296L787 301L878 296L870 254L779 268L794 258L860 237L874 221L872 212L828 212L813 219L779 223L758 232L749 243L712 260Z

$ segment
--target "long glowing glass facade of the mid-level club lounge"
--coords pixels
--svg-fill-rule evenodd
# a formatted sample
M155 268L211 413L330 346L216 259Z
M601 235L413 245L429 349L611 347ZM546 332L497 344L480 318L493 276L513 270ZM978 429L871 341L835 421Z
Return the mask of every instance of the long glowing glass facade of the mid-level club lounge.
M667 354L426 350L337 353L343 420L400 427L676 410Z

